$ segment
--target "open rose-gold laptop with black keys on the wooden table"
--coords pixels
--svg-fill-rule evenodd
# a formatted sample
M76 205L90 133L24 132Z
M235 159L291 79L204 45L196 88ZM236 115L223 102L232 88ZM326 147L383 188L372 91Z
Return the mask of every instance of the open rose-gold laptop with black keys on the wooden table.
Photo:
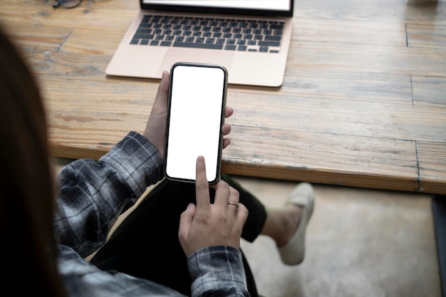
M105 71L161 78L177 62L224 66L228 83L283 84L294 0L140 0Z

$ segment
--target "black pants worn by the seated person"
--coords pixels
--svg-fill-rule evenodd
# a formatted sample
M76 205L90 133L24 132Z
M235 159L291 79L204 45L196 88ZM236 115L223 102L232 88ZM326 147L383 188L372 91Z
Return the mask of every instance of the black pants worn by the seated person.
M264 205L228 175L222 174L222 179L239 191L240 202L249 210L242 238L252 242L264 226ZM187 257L178 240L180 214L190 202L195 203L195 184L163 180L123 220L90 263L162 283L190 296ZM249 293L256 297L254 277L243 252L242 257Z

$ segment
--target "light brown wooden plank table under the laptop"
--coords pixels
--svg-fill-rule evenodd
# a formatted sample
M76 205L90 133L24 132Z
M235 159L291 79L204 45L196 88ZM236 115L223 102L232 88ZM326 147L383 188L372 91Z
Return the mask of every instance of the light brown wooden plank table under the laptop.
M446 1L296 0L281 88L230 85L223 171L446 193ZM159 80L104 71L138 0L1 0L46 98L56 157L142 132Z

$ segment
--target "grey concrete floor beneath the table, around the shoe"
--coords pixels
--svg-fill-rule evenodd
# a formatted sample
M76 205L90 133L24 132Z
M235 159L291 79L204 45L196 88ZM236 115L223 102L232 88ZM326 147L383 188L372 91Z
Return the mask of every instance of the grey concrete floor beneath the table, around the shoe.
M238 177L266 206L295 182ZM314 184L306 258L281 264L273 241L242 241L265 297L442 296L429 194Z

